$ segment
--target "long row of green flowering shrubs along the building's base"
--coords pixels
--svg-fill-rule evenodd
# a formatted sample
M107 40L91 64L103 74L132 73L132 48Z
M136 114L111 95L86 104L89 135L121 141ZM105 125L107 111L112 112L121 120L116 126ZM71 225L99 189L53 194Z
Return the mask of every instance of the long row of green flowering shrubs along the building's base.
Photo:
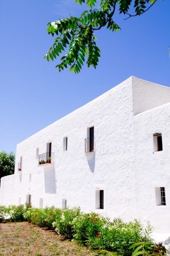
M120 218L110 221L97 213L82 213L79 208L44 209L31 205L0 207L0 222L28 221L40 227L56 230L57 234L82 243L102 255L166 255L165 247L150 238L151 227L145 229L139 221L124 222ZM100 253L99 253L100 254Z

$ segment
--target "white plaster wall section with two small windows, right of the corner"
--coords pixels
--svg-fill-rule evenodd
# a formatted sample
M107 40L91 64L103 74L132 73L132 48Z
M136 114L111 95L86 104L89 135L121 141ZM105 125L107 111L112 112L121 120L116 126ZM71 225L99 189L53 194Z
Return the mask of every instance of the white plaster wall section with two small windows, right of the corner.
M162 133L163 151L154 152L153 134ZM134 117L138 218L157 233L170 230L170 104ZM156 206L155 187L165 187L166 206Z

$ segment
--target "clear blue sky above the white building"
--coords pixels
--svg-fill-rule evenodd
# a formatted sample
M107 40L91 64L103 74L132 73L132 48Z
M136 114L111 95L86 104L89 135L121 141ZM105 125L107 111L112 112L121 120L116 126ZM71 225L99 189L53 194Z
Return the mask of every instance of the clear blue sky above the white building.
M0 151L93 100L129 76L170 85L170 1L141 17L118 18L121 32L97 32L99 67L59 73L43 59L46 24L79 14L74 0L0 0Z

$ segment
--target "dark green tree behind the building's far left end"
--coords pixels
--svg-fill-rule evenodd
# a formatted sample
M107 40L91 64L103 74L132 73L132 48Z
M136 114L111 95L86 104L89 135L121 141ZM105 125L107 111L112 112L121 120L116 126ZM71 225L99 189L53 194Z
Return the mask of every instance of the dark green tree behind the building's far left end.
M0 152L0 183L1 177L14 174L15 155L13 152Z

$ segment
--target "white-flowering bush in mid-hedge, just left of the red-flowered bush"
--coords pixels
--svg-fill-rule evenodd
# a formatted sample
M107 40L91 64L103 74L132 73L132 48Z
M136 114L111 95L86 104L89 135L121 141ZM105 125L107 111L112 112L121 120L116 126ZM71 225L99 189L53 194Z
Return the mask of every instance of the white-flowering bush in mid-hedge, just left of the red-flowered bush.
M79 214L79 208L62 210L61 214L56 216L56 221L53 222L56 232L65 238L72 239L75 234L75 230L73 229L73 220L75 217L79 216Z

